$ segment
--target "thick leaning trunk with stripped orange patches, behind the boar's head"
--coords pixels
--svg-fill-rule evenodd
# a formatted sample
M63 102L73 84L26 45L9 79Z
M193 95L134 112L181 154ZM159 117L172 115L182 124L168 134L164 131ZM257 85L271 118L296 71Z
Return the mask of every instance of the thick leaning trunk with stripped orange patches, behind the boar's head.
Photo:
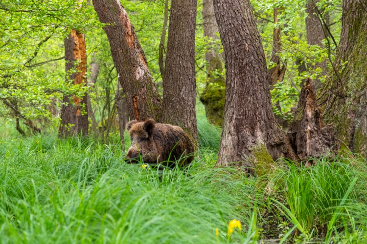
M136 120L161 116L161 97L148 70L134 27L119 0L93 0L111 46L112 58L126 95L129 116Z

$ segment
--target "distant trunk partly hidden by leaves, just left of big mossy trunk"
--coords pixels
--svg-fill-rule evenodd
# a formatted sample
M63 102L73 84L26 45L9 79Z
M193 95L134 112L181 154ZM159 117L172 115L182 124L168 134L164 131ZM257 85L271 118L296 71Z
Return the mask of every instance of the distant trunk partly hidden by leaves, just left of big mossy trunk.
M318 15L316 10L316 6L320 0L307 0L306 1L306 34L307 34L307 44L308 45L319 45L320 47L324 47L322 44L322 40L325 39L325 35L322 29L321 21L319 18L321 16ZM316 63L313 66L313 69L317 67L321 67L323 70L321 76L326 75L327 63L326 60ZM319 80L314 81L314 85L316 89L320 88L321 82Z

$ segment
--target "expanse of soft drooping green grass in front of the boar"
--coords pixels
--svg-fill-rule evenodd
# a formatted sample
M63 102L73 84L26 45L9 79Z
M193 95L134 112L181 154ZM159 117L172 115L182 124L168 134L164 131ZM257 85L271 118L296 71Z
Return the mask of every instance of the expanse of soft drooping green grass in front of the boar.
M216 243L250 223L254 182L235 171L163 173L119 146L40 136L0 144L3 243ZM233 236L238 238L239 236Z

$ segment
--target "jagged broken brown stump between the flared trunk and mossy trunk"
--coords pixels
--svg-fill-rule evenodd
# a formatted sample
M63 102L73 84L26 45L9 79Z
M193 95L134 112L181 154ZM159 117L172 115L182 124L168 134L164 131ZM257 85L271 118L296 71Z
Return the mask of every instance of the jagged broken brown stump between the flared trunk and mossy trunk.
M310 79L306 80L299 94L290 138L301 160L320 157L335 143L335 131L323 122L321 108L316 102L315 86Z

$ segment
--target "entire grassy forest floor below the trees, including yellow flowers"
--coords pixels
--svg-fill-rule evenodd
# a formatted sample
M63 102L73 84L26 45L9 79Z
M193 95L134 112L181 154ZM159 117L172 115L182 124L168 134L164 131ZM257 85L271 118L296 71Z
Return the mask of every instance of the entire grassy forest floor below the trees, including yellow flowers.
M2 129L1 242L367 242L365 159L248 177L215 168L220 132L198 127L201 150L186 172L124 163L117 133L105 144Z

